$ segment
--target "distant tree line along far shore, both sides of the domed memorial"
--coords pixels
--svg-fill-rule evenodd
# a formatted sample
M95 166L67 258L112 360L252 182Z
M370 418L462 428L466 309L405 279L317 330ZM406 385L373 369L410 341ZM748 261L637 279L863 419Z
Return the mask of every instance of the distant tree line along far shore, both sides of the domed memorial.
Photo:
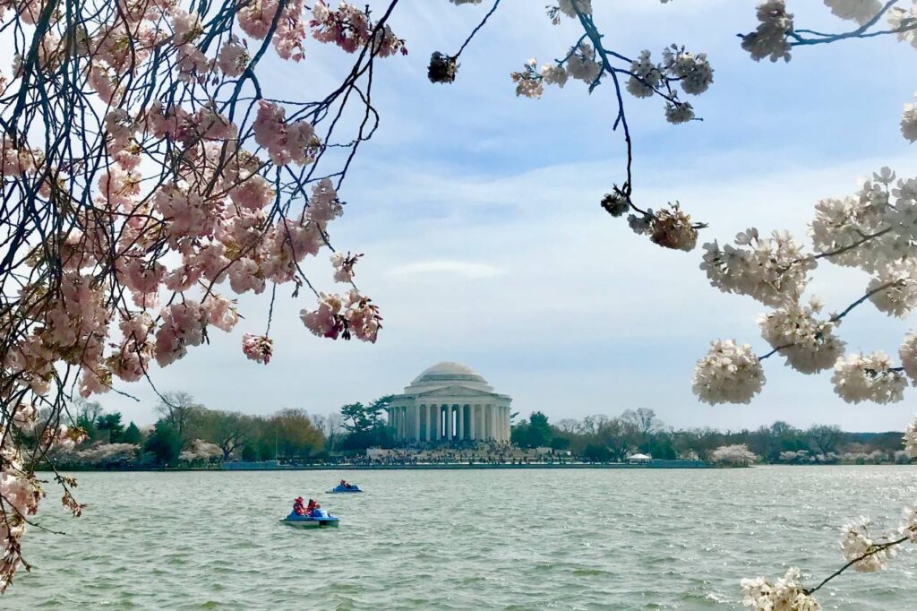
M210 409L183 392L162 395L156 422L148 428L123 423L119 412L79 401L72 419L85 430L81 446L59 452L63 466L174 467L220 461L323 461L362 454L368 448L396 448L384 412L386 395L369 403L343 405L328 415L285 408L270 416ZM907 461L900 433L852 433L828 425L795 428L786 422L754 430L676 429L652 409L628 409L621 415L596 415L551 422L540 411L513 414L512 444L520 449L549 448L575 459L625 461L634 453L663 460L713 460L715 450L745 446L765 462L833 463Z

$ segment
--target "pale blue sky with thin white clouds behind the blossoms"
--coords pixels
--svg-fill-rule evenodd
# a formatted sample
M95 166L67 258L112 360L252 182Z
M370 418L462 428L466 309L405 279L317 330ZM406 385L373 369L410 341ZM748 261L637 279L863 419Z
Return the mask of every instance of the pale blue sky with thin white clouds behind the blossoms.
M374 2L372 6L381 6ZM480 372L513 397L523 416L552 420L616 415L649 407L673 427L904 428L914 391L896 405L846 405L830 372L806 376L766 361L767 384L750 405L710 406L691 394L691 371L713 339L768 350L756 317L765 308L721 294L699 269L702 250L663 250L598 206L620 183L624 147L613 132L613 88L588 94L579 82L517 98L509 74L530 57L561 57L578 37L552 26L544 0L504 0L460 59L451 85L426 79L434 50L453 52L489 3L402 0L390 21L410 53L377 64L377 135L359 151L340 192L348 202L331 226L338 250L365 253L356 281L381 306L376 344L315 338L299 311L309 295L279 290L271 363L248 361L242 333L261 333L268 297L243 297L236 330L214 330L207 346L152 379L215 409L270 414L282 407L328 413L340 405L401 392L438 361ZM710 223L701 243L737 231L790 229L804 237L812 206L856 191L883 165L917 172L900 137L911 101L914 50L893 39L851 40L796 50L790 63L751 61L736 34L757 25L754 0L594 0L606 46L658 57L673 42L705 51L711 89L690 101L703 121L671 126L658 100L627 96L635 139L635 199L657 208L678 200ZM798 28L849 29L821 3L790 0ZM268 60L267 95L317 99L350 58L309 41L307 58ZM321 290L328 253L306 265ZM811 294L841 309L865 290L862 272L823 265ZM849 350L896 353L911 320L871 306L847 317ZM106 409L149 423L156 396L146 383L122 384L132 401L106 394Z

